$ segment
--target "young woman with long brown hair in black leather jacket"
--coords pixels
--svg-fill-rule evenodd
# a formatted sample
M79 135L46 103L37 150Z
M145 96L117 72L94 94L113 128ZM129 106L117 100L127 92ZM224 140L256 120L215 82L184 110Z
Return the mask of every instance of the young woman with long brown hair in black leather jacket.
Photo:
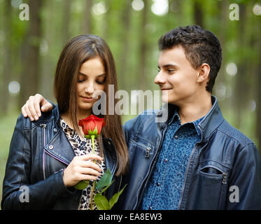
M99 116L106 125L95 139L95 154L91 140L83 137L78 126L78 120L92 114L97 92L107 93L108 85L118 90L115 62L105 41L94 35L71 39L57 63L57 106L34 122L22 115L17 119L3 180L2 209L90 209L93 181L106 169L115 176L127 172L120 116ZM108 111L108 103L106 107ZM90 180L84 190L73 187L84 180ZM108 188L108 195L115 191L116 184Z

